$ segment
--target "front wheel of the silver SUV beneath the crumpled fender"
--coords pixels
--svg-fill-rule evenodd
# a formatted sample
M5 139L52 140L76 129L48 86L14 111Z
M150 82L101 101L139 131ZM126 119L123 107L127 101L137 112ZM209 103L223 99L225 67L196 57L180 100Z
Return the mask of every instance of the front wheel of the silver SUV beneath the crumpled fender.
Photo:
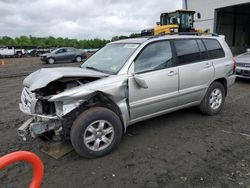
M122 134L121 120L114 112L94 107L77 117L71 128L70 139L79 155L97 158L117 147Z

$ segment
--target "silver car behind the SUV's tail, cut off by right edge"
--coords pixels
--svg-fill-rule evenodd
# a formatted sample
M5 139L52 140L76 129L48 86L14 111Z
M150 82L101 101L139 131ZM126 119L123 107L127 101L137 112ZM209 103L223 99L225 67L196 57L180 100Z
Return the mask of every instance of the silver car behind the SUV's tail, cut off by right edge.
M235 57L236 76L239 78L250 78L250 49L246 53Z

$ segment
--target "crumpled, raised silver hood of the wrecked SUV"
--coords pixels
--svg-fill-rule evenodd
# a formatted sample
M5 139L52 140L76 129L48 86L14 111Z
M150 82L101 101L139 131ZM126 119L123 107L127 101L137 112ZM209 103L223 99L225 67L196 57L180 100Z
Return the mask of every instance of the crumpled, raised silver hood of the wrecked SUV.
M83 78L83 77L105 77L108 74L88 70L80 67L60 67L60 68L42 68L27 76L23 85L30 91L47 86L50 82L61 78Z

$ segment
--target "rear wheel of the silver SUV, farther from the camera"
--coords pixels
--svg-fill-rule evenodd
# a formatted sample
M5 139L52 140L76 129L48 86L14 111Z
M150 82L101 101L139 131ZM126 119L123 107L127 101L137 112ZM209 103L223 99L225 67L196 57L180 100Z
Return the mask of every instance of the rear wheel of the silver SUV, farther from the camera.
M225 87L219 82L213 82L207 90L199 109L207 115L218 114L225 101Z

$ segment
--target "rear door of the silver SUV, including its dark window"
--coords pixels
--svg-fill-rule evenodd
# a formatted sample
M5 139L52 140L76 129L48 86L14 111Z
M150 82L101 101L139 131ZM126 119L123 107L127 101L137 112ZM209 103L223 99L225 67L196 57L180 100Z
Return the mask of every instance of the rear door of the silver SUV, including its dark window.
M199 102L214 77L213 62L201 39L178 39L174 44L179 66L178 105Z

